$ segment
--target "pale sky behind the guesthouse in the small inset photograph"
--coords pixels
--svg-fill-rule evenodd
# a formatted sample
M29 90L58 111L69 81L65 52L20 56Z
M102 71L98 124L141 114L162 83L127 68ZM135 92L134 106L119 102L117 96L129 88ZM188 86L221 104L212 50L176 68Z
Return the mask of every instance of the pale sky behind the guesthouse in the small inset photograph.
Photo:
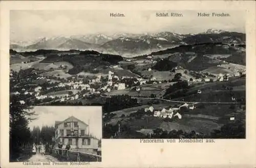
M90 134L102 138L101 106L35 106L31 111L37 114L36 119L29 123L31 130L34 126L54 127L55 121L64 121L73 115L86 124L90 123Z

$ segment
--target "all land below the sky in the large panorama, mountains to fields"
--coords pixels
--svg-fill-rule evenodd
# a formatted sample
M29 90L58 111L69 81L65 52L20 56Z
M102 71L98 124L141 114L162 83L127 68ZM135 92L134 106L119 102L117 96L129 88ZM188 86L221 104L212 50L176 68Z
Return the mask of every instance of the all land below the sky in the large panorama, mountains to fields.
M12 43L10 99L102 106L103 138L243 138L245 61L245 34L227 31Z

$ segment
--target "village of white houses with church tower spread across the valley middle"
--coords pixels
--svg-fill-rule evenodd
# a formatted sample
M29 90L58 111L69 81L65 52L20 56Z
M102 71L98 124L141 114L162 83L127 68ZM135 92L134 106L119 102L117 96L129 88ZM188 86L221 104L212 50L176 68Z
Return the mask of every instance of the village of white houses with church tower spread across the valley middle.
M116 65L117 66L117 65ZM218 65L219 66L219 65ZM175 67L175 69L181 68L180 66ZM151 71L151 68L148 68L148 71ZM190 73L196 73L191 71ZM109 71L107 76L91 76L86 78L77 78L76 76L63 79L51 76L38 76L36 72L33 72L34 76L33 79L27 78L26 85L29 85L28 89L25 89L24 85L18 86L19 83L22 83L24 79L19 79L15 81L14 75L15 72L11 71L10 73L10 80L13 80L13 83L17 83L14 86L13 92L11 94L19 95L31 95L38 103L44 102L65 102L65 101L75 101L80 100L83 98L88 98L91 95L102 95L105 93L111 93L114 90L129 90L129 91L137 91L140 92L145 85L151 84L169 84L173 85L176 81L157 81L156 78L150 79L143 79L141 77L129 77L129 76L117 76L113 71ZM198 73L197 73L198 74ZM223 82L228 81L228 79L232 76L229 74L219 74L211 75L207 73L200 74L201 78L190 78L187 80L188 84L197 84L201 82ZM234 73L233 77L241 77L245 75L245 70L237 71ZM44 86L38 84L32 85L33 81L45 81ZM47 86L48 85L48 86ZM43 88L44 87L44 88ZM69 91L67 91L69 90ZM202 91L198 90L200 94ZM52 93L52 94L51 94ZM22 101L20 104L24 104L25 102ZM158 115L158 114L155 114ZM176 114L175 114L176 115ZM179 115L179 114L177 114ZM163 115L166 116L166 115ZM169 117L172 115L168 115Z

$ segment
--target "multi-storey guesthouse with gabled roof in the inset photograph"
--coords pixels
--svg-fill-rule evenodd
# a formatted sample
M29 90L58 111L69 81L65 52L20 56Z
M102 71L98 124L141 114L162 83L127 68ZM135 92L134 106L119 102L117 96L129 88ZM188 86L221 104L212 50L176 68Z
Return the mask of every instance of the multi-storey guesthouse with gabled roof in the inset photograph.
M59 142L62 148L70 145L72 151L97 153L98 139L90 135L89 125L70 116L64 121L55 121L55 146Z

